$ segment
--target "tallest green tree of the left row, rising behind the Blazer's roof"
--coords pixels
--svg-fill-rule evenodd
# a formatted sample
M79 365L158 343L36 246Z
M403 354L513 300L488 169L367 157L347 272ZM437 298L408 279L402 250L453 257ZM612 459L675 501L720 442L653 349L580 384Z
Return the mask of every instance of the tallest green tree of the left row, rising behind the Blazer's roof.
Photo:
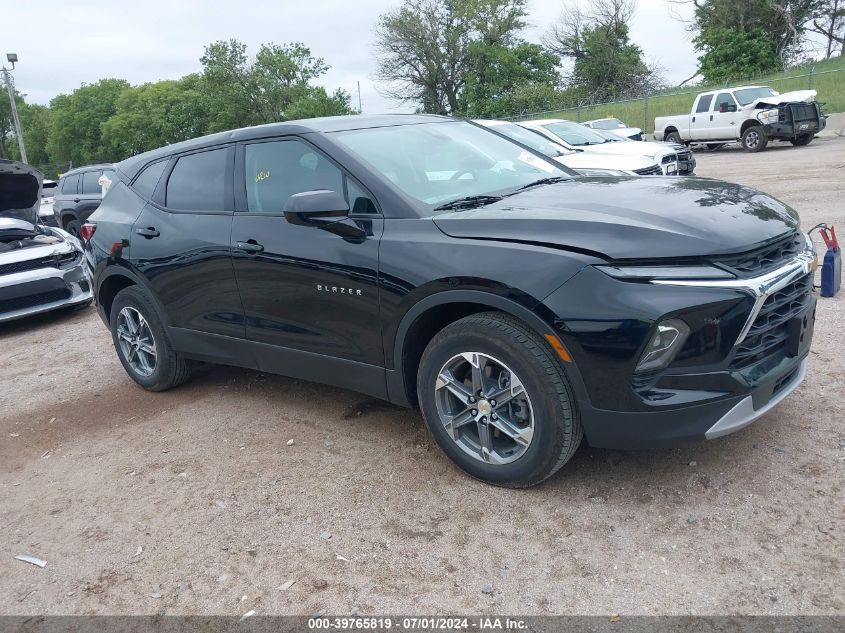
M206 47L200 61L209 131L354 113L349 93L328 94L311 83L329 66L300 43L263 44L250 60L245 44L219 41Z

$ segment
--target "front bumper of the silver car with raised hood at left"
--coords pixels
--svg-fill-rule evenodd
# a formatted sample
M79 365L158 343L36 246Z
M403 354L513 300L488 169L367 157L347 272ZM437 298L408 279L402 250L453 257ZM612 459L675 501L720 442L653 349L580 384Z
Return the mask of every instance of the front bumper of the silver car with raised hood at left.
M91 278L82 260L67 269L39 268L0 276L0 322L91 301Z

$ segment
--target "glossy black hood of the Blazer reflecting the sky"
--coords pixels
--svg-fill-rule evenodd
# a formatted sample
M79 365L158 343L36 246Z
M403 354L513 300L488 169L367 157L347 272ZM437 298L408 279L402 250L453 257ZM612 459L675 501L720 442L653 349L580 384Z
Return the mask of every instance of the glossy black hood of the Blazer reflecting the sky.
M446 235L544 244L612 260L750 250L798 216L759 191L705 178L578 178L434 217Z

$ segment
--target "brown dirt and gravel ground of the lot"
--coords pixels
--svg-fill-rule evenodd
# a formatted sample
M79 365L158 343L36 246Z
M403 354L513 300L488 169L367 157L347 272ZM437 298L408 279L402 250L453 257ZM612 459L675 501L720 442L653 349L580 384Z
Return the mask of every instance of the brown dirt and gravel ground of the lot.
M698 173L845 237L845 139ZM820 299L807 380L752 427L583 446L526 491L355 393L225 367L146 393L93 309L0 326L0 613L842 614L843 314Z

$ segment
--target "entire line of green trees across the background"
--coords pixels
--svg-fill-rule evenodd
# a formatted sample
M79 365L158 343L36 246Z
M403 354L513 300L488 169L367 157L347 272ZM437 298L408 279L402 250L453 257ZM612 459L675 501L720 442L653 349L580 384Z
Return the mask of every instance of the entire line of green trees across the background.
M380 91L419 112L496 117L665 87L631 41L636 0L564 0L537 42L525 37L527 1L402 0L374 27ZM782 70L806 56L811 34L822 56L845 54L845 0L667 3L691 15L698 69L687 82ZM201 72L175 80L102 79L49 106L17 95L30 162L55 176L212 132L355 112L346 91L316 83L329 66L301 43L265 44L250 56L237 40L218 41L200 62ZM0 158L18 158L10 110L0 99Z

